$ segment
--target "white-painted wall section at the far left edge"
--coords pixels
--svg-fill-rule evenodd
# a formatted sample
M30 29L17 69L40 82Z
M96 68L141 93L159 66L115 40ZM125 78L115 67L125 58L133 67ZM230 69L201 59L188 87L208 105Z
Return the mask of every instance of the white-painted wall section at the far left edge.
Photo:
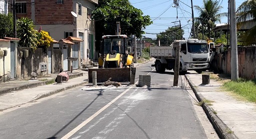
M5 80L10 78L10 41L0 41L0 49L7 50L4 56L4 74ZM0 80L3 80L3 57L0 58Z

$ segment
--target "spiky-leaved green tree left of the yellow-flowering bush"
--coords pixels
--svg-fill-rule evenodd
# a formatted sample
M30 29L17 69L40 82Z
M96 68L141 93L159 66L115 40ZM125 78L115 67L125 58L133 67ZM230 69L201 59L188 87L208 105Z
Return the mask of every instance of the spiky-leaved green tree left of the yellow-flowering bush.
M33 27L32 19L27 17L17 19L17 36L20 38L19 45L35 50L37 48L37 31Z

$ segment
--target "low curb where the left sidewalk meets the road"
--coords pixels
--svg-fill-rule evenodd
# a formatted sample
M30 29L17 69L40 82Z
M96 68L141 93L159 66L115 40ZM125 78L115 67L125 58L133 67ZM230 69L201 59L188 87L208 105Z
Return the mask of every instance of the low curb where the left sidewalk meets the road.
M50 91L50 92L41 93L41 94L36 95L31 100L27 100L27 101L24 101L22 103L15 104L15 105L12 105L12 106L0 109L0 111L8 109L8 108L16 107L16 106L19 106L19 105L22 105L22 104L25 104L25 103L28 103L28 102L32 102L34 100L37 100L37 99L40 99L40 98L43 98L43 97L46 97L46 96L49 96L49 95L52 95L52 94L55 94L55 93L67 90L67 89L70 89L70 88L74 88L74 87L77 87L77 86L80 86L80 85L86 84L86 83L87 83L87 81L84 81L84 82L81 82L81 83L77 83L77 84L69 85L69 86L66 86L66 87L63 87L63 88L60 88L60 89L56 89L56 90L53 90L53 91Z

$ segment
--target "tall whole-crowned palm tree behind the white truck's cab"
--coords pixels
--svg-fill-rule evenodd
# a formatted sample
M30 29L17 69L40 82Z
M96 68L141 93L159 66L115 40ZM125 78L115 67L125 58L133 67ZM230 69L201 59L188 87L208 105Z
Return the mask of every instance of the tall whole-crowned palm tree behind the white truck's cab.
M219 13L222 8L217 0L203 0L203 5L194 5L195 9L199 11L199 16L194 20L200 22L202 25L206 24L208 30L208 38L210 38L210 29L214 27L215 22L220 23L220 17L226 16L226 13Z

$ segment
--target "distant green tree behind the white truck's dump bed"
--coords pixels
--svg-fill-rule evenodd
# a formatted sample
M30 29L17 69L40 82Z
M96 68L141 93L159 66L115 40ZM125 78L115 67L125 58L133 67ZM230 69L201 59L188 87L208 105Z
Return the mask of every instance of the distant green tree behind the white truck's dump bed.
M184 30L181 30L179 27L168 27L165 31L157 34L157 40L160 40L160 44L170 45L175 39L182 39L182 35L184 34Z

